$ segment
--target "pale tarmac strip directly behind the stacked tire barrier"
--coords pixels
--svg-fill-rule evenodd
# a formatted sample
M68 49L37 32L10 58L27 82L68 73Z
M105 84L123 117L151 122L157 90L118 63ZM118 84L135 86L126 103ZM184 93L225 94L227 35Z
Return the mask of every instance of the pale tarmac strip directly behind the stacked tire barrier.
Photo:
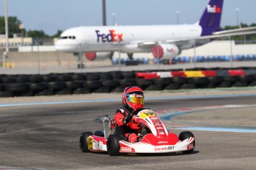
M92 61L93 62L93 61ZM111 72L111 71L144 71L144 70L163 70L163 69L188 69L188 68L236 68L236 67L255 67L256 61L237 61L237 62L209 62L209 63L190 63L190 64L140 64L137 66L125 65L102 65L93 66L85 65L84 69L78 69L77 66L59 66L59 67L16 67L3 68L0 67L0 74L17 75L17 74L49 74L49 73L65 73L65 72Z

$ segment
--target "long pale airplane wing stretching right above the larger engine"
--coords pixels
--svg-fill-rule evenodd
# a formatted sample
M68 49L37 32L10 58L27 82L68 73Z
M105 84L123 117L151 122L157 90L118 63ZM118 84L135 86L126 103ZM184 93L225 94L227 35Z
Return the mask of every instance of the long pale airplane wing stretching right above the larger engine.
M200 36L197 38L179 38L179 39L171 39L171 40L163 40L163 41L147 41L140 42L140 47L151 47L155 44L185 44L188 41L203 41L203 40L214 40L217 38L225 38L234 35L250 35L256 34L256 27L246 27L246 28L238 28L233 30L224 30L213 33L213 35Z

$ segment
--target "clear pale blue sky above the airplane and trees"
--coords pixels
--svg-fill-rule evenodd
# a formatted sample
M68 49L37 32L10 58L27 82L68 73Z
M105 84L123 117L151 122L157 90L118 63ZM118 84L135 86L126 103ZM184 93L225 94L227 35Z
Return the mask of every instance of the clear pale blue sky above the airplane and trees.
M194 24L209 0L105 0L107 24ZM255 0L224 0L221 26L256 23ZM238 10L236 10L238 9ZM177 14L177 11L180 11ZM7 0L8 16L16 16L26 30L57 30L102 25L102 0ZM0 0L4 16L4 0ZM179 16L179 17L177 17ZM177 19L179 18L179 19Z

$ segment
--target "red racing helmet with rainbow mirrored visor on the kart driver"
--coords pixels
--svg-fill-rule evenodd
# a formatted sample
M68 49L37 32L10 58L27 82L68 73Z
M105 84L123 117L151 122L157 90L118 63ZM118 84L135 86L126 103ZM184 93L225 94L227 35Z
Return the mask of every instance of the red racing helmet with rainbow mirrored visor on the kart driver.
M128 107L128 109L136 110L142 109L144 105L143 90L138 86L128 86L122 93L122 103Z

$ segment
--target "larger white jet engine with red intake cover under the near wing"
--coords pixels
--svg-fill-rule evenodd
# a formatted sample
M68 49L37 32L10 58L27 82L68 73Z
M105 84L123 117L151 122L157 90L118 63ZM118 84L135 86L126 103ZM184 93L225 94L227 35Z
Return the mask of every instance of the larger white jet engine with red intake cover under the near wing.
M180 48L174 44L156 44L151 49L154 58L174 58L180 55Z

